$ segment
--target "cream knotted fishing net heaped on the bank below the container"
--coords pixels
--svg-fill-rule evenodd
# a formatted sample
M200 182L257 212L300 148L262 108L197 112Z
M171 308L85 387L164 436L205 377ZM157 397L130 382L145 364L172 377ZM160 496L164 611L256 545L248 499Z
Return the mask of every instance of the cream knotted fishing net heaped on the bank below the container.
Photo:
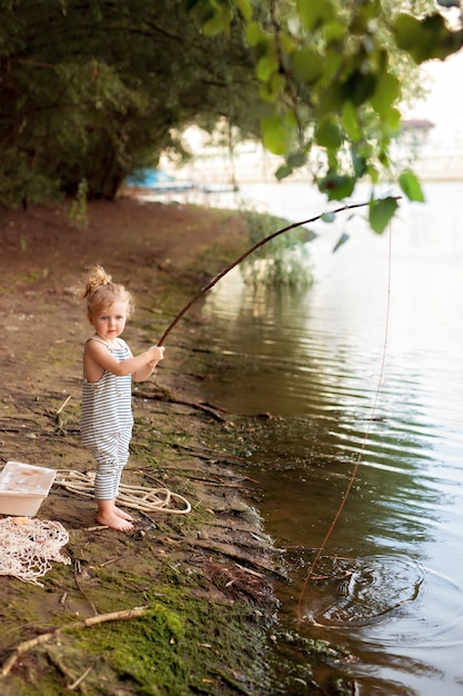
M51 561L69 565L61 554L69 534L58 521L7 517L0 520L0 575L33 583L51 569Z

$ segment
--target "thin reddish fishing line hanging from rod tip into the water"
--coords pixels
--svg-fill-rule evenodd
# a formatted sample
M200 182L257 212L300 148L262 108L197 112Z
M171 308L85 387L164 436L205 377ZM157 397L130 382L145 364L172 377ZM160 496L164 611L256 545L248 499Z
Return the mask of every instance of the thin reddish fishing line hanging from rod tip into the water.
M371 411L371 416L370 416L370 418L368 420L368 426L366 426L366 429L365 429L365 434L363 436L363 440L362 440L362 444L361 444L359 456L356 458L354 468L352 469L351 478L349 479L348 486L346 486L346 488L344 490L344 495L342 497L341 504L340 504L340 506L339 506L339 508L336 510L336 514L334 515L334 518L333 518L333 520L332 520L332 523L330 525L330 528L328 529L328 531L326 531L326 534L324 536L322 545L320 546L319 550L315 554L315 557L312 560L312 564L311 564L311 566L309 568L309 571L308 571L308 574L305 576L305 579L304 579L304 581L302 584L302 589L301 589L300 595L299 595L298 608L296 608L296 618L298 618L299 622L302 620L302 615L301 615L302 612L301 612L301 609L302 609L302 600L303 600L305 590L306 590L306 588L309 586L309 583L310 583L310 580L312 578L312 575L313 575L313 573L315 570L316 564L319 563L320 557L321 557L323 550L325 549L326 544L328 544L328 541L329 541L329 539L330 539L330 537L331 537L331 535L332 535L332 533L334 530L334 527L336 526L338 520L341 517L341 513L344 509L344 506L345 506L345 504L348 501L349 494L352 490L352 486L354 485L354 481L355 481L355 478L356 478L356 475L358 475L358 471L359 471L359 467L360 467L360 465L362 463L362 459L363 459L363 454L364 454L364 450L365 450L366 441L368 441L368 439L370 437L372 422L374 420L374 415L376 412L378 400L380 398L380 391L381 391L381 386L382 386L383 376L384 376L384 366L385 366L387 340L389 340L389 322L390 322L390 309L391 309L391 261L392 261L392 230L391 230L391 223L389 225L387 241L389 241L389 245L387 245L387 290L386 290L386 312L385 312L385 324L384 324L384 339L383 339L383 349L382 349L380 376L379 376L378 386L376 386L376 389L375 389L375 392L374 392L372 411Z

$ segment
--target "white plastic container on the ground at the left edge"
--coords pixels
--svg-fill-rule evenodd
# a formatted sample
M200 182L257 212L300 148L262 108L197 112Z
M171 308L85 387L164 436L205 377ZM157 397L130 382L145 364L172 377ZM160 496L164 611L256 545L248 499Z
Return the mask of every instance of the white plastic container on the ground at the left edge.
M33 517L48 496L57 471L8 461L0 474L0 514Z

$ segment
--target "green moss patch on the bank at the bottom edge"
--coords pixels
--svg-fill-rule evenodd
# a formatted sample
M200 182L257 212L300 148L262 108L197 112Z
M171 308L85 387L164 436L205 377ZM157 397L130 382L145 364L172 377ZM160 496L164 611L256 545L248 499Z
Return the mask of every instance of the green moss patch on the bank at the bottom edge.
M255 615L249 605L211 606L207 598L171 585L158 586L157 595L140 619L82 632L79 648L104 657L118 679L134 689L128 693L220 694L225 685L240 685L244 674L245 679L253 675L258 685L258 675L264 674L263 646L261 633L252 632ZM244 684L241 689L245 693Z

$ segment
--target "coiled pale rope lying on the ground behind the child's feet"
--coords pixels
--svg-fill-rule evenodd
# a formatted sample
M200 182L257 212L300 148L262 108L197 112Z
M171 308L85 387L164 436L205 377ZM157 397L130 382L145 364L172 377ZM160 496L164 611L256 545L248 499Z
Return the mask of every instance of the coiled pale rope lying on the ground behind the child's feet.
M60 469L53 484L85 498L93 498L94 476L94 471L64 471ZM181 507L177 506L178 503ZM191 511L189 500L168 488L145 488L144 486L128 486L127 484L121 484L119 487L118 504L142 513L162 511L170 515L187 515Z

